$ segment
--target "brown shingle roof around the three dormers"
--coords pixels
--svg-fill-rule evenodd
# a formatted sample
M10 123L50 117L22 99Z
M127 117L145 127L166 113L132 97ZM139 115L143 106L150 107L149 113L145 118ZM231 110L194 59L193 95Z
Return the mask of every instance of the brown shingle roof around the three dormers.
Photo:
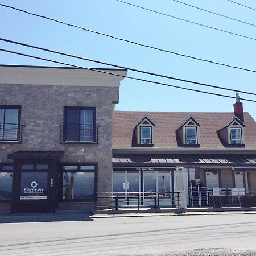
M232 112L133 112L115 111L113 115L113 146L131 147L133 130L147 115L155 123L154 148L178 148L176 130L189 117L200 123L200 148L224 148L217 130L228 125L235 117ZM244 113L243 144L246 148L256 148L256 122Z

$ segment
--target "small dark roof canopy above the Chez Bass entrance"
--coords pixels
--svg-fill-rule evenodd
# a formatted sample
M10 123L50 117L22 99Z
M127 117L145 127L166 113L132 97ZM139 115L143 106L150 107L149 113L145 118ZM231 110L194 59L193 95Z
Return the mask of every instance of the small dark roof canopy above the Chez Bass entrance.
M64 151L17 151L8 155L10 159L57 159Z

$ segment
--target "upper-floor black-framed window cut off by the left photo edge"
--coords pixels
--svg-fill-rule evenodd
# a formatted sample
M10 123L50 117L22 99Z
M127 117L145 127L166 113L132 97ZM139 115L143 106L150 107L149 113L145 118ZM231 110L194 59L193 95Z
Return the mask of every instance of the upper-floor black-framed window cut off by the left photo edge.
M0 106L0 141L19 141L20 106Z

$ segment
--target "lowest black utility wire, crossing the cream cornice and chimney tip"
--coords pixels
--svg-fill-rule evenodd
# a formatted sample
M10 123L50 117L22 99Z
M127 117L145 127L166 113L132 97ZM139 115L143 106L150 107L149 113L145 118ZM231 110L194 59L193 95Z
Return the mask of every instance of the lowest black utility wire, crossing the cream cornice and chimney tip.
M224 94L212 93L212 92L205 92L204 90L196 90L196 89L185 88L185 87L182 87L182 86L176 86L176 85L171 85L171 84L164 84L163 82L155 82L155 81L152 81L152 80L139 79L139 78L137 78L137 77L117 75L117 74L114 74L114 73L110 73L110 72L106 72L106 71L102 71L102 70L98 70L98 69L85 68L85 67L81 67L81 66L78 66L78 65L73 65L73 64L64 63L64 62L61 62L61 61L45 59L45 58L42 58L42 57L33 56L33 55L28 55L28 54L25 54L25 53L20 53L20 52L15 52L15 51L9 51L9 50L7 50L7 49L2 49L2 48L0 48L0 51L9 52L9 53L14 53L14 54L16 54L16 55L31 57L31 58L39 59L39 60L46 60L46 61L50 61L50 62L52 62L52 63L58 63L58 64L62 64L62 65L68 65L68 66L71 66L71 67L82 68L82 69L88 69L88 70L90 70L90 71L105 73L105 74L108 74L108 75L123 77L123 78L131 79L131 80L137 80L137 81L142 81L142 82L150 82L151 84L165 85L165 86L169 86L169 87L176 88L176 89L189 90L189 91L191 91L191 92L198 92L198 93L210 94L210 95L214 95L214 96L220 96L220 97L225 97L225 98L234 98L234 99L236 99L236 97L228 96L228 95L224 95ZM240 98L240 100L250 101L250 102L256 102L256 100L250 100L250 99L247 99L247 98Z

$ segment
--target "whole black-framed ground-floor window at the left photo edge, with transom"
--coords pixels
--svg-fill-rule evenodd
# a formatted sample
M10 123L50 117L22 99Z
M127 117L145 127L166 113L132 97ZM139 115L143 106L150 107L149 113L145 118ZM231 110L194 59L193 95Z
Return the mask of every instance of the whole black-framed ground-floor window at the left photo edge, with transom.
M0 201L11 200L11 189L13 185L13 166L2 164L0 167Z

